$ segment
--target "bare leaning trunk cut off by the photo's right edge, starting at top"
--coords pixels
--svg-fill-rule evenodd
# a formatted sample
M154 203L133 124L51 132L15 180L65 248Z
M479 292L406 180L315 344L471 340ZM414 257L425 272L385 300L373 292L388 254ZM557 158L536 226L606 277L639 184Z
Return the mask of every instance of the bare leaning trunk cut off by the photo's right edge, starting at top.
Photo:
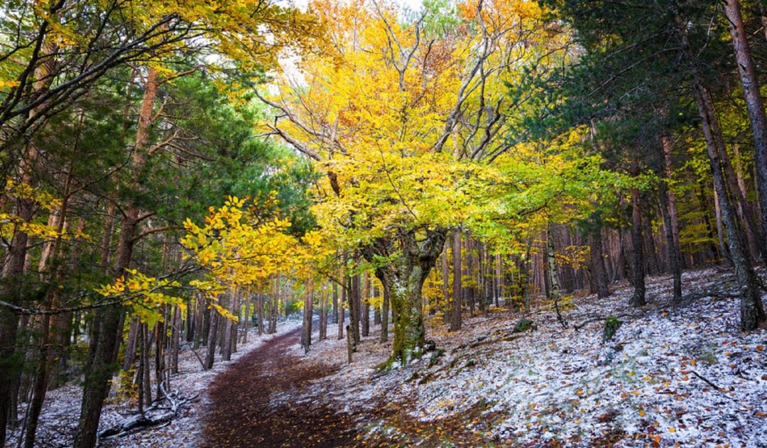
M748 34L743 25L741 8L739 0L726 0L725 14L729 24L730 35L732 36L732 46L735 51L735 58L740 75L740 83L743 88L743 94L746 97L746 110L749 111L751 120L751 129L754 134L755 162L759 189L759 197L764 200L767 197L767 117L765 117L764 103L762 95L759 92L759 79L756 77L756 70L751 58L749 49ZM765 31L767 32L767 31ZM765 248L765 239L767 239L767 206L762 204L762 258L767 262L767 248Z

